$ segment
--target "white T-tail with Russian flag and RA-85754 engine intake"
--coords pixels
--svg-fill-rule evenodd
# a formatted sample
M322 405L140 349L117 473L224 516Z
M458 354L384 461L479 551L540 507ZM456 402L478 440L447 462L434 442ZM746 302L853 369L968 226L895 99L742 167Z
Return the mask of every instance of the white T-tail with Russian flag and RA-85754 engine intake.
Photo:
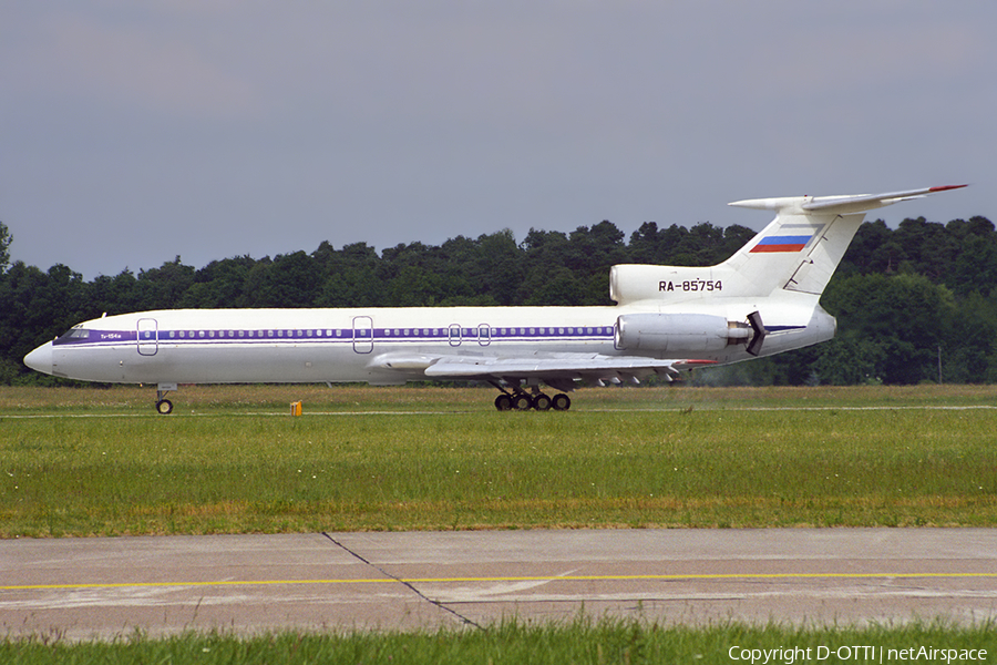
M733 256L717 266L613 266L609 297L620 305L759 298L785 293L819 297L859 231L865 211L965 186L859 196L736 201L729 205L775 211L775 218Z

